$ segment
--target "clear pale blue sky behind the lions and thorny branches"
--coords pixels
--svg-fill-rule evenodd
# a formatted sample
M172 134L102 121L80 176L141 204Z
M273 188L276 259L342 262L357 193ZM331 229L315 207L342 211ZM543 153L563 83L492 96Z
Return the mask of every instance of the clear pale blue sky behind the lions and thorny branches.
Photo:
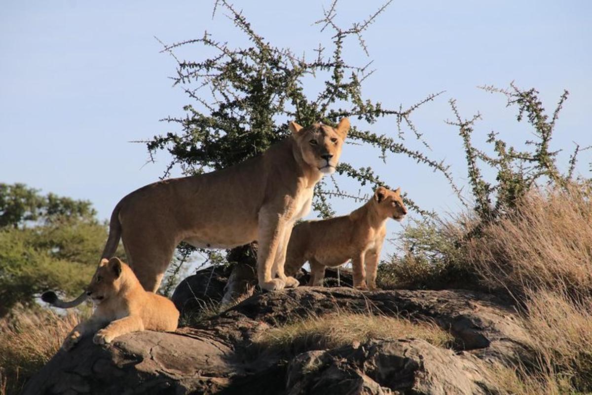
M295 53L314 56L312 49L330 37L312 25L329 1L235 4L262 36ZM362 20L380 4L343 0L336 21ZM144 145L131 141L174 131L174 125L159 119L183 114L182 106L191 101L172 87L168 76L175 73L175 62L159 53L154 36L173 43L207 30L218 40L243 44L222 12L212 19L212 7L213 2L195 0L2 1L0 182L24 182L91 200L106 219L123 195L156 181L167 156L146 164ZM562 89L568 89L570 99L553 145L571 151L574 140L592 144L592 2L395 0L365 39L370 58L355 42L346 55L360 65L374 59L377 71L366 81L367 97L398 108L446 91L417 111L414 120L432 144L429 155L446 159L461 185L466 178L461 142L444 123L452 117L449 98L458 100L465 117L481 111L476 140L485 140L491 130L510 141L530 133L527 124L516 123L516 110L505 107L504 97L477 85L505 87L515 81L523 88L536 87L549 111ZM192 60L204 56L200 47L182 55ZM391 120L374 131L396 129ZM346 146L343 158L375 166L389 184L400 185L423 207L458 209L447 184L424 166L392 156L381 165L370 153L354 155L355 149ZM581 158L578 169L585 175L591 156L588 152ZM337 207L346 213L355 204Z

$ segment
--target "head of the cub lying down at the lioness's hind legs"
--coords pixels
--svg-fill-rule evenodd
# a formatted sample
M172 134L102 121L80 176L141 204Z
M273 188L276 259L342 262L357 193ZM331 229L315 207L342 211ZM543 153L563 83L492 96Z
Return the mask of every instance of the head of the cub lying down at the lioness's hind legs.
M95 305L117 295L121 287L123 265L119 258L101 259L95 275L92 276L91 284L86 287L86 294Z

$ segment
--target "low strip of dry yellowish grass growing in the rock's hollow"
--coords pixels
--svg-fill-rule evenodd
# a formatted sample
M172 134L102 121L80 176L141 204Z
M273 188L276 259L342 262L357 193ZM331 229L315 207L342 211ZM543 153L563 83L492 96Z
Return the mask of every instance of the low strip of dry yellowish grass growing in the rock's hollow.
M264 349L326 349L369 339L424 339L447 346L452 336L432 323L403 318L338 312L310 316L259 333L253 342Z

